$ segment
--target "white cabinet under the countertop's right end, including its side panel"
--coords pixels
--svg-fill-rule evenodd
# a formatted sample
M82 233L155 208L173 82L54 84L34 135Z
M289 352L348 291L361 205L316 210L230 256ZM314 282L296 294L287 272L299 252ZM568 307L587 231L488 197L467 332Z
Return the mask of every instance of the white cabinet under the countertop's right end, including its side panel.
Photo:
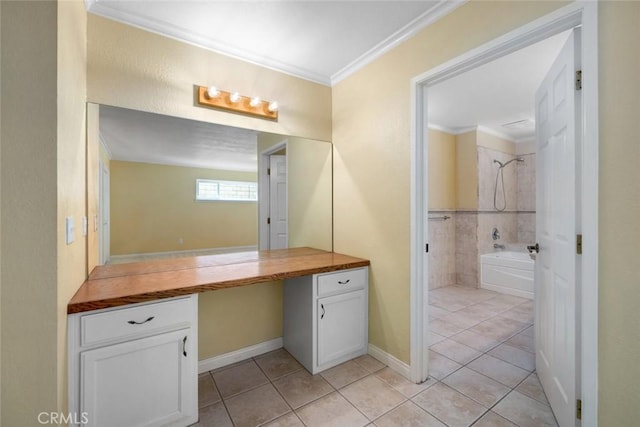
M284 348L312 374L367 353L368 269L288 279Z

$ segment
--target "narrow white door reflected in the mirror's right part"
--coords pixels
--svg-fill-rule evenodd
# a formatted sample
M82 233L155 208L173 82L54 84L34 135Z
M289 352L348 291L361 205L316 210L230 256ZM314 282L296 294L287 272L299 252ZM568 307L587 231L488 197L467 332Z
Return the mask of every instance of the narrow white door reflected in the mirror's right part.
M269 156L269 249L289 247L287 234L287 156Z

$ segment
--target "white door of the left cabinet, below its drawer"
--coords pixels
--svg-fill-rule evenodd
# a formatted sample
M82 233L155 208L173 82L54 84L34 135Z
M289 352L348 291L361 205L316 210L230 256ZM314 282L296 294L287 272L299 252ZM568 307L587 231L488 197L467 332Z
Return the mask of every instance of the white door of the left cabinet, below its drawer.
M81 412L90 426L186 425L197 420L191 329L81 353Z

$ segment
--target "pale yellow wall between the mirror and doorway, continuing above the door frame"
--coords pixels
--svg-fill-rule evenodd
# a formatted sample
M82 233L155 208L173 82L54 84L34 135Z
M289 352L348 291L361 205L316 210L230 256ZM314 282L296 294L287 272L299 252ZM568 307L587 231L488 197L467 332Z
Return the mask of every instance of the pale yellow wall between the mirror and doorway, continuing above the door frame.
M369 340L402 361L409 362L410 79L558 6L465 3L333 88L335 250L371 260Z

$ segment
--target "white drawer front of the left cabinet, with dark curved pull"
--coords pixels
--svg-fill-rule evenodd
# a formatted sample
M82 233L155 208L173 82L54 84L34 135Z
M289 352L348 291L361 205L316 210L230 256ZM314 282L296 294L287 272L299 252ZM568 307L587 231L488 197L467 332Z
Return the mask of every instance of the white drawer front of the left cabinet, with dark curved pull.
M80 319L80 345L88 346L128 336L187 325L192 319L189 298L88 314Z

